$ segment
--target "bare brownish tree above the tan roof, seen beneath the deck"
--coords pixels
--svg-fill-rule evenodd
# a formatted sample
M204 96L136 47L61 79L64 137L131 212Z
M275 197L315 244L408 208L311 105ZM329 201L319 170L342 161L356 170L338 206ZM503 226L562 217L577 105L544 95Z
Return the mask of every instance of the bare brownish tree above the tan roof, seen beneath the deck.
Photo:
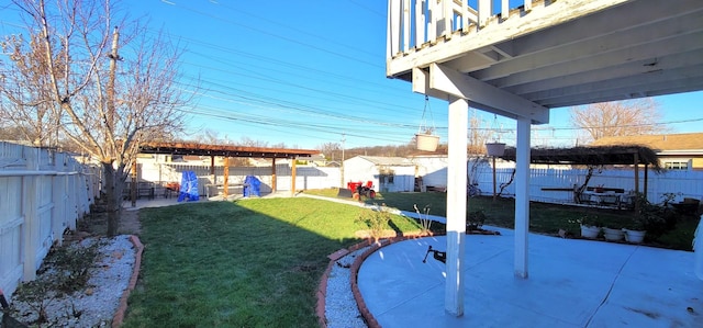
M589 143L602 137L633 136L659 133L666 127L654 99L601 102L571 108L571 123L584 134L579 136Z

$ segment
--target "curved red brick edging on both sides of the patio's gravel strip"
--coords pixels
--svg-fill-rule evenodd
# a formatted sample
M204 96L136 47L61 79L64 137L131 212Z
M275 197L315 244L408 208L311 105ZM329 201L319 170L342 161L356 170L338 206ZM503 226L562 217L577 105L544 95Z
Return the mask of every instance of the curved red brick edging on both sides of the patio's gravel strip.
M350 246L349 248L347 248L348 252L353 252L356 250L359 250L364 247L367 246L371 246L371 248L367 249L364 253L361 253L359 257L357 257L354 260L354 263L352 263L352 275L350 275L350 287L352 287L352 293L354 294L354 299L356 301L356 305L359 309L359 313L361 314L361 316L364 317L364 320L366 321L367 326L370 328L377 328L380 327L378 325L378 321L376 320L376 318L373 318L373 315L369 312L368 307L366 306L366 303L364 302L364 298L361 297L361 293L359 292L359 287L358 287L358 283L357 283L357 274L359 272L359 269L361 268L361 263L364 262L364 260L366 258L368 258L371 253L373 253L375 251L377 251L378 249L386 247L388 245L391 245L393 242L398 242L398 241L403 241L403 240L409 240L409 239L419 239L419 238L424 238L424 237L432 237L427 236L427 235L403 235L403 236L399 236L399 237L393 237L393 238L387 238L387 239L382 239L380 240L380 245L379 244L375 244L370 240L365 240L358 244L355 244L353 246ZM437 235L434 235L437 236ZM317 285L317 291L315 291L315 294L317 296L317 304L316 304L316 313L317 313L317 323L320 324L321 328L327 328L327 318L325 316L325 296L327 293L327 279L330 276L330 272L332 271L332 265L334 265L334 263L338 260L338 258L331 258L330 263L327 264L327 269L325 270L325 272L322 274L322 278L320 279L320 284Z

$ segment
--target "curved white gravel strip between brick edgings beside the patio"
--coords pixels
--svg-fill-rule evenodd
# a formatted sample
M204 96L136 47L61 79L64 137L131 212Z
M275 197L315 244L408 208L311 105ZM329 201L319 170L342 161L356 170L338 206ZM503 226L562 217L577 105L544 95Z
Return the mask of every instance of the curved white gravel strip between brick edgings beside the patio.
M367 327L352 293L352 263L369 247L353 251L337 260L327 278L325 317L328 328Z

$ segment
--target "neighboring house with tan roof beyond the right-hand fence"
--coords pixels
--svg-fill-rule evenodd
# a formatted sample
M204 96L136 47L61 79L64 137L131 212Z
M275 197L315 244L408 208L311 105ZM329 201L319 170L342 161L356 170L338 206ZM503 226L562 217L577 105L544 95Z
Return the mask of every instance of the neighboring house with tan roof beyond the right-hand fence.
M669 170L703 170L703 133L604 137L591 146L638 145L657 152Z

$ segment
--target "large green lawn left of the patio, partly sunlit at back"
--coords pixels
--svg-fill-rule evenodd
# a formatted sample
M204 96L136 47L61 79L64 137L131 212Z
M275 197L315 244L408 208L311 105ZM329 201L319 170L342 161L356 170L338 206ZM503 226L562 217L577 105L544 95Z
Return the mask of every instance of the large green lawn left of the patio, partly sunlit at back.
M141 210L145 251L123 327L316 327L327 255L361 241L360 211L305 197ZM419 230L401 216L390 226Z

